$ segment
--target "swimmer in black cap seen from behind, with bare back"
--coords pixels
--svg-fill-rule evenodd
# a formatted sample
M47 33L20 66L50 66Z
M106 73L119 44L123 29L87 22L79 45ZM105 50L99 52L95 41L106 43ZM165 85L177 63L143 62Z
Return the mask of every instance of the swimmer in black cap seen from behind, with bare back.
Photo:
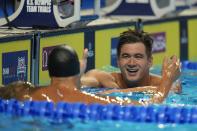
M84 68L84 67L83 67ZM48 71L51 84L46 87L37 87L24 100L51 101L51 102L83 102L86 104L140 104L129 99L119 99L109 96L96 96L81 92L80 62L77 53L68 45L54 48L48 58ZM84 71L81 70L81 73Z

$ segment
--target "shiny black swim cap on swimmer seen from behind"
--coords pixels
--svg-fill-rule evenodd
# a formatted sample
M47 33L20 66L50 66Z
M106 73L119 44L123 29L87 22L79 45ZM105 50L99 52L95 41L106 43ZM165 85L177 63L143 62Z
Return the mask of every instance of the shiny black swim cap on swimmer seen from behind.
M68 46L55 47L48 59L48 70L51 77L67 77L80 73L77 53Z

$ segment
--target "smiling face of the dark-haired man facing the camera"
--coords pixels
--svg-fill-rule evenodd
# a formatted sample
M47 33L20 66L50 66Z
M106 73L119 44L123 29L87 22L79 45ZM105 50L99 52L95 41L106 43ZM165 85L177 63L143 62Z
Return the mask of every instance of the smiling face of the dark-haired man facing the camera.
M121 47L117 63L127 83L138 83L149 75L152 57L148 58L143 43L128 43Z

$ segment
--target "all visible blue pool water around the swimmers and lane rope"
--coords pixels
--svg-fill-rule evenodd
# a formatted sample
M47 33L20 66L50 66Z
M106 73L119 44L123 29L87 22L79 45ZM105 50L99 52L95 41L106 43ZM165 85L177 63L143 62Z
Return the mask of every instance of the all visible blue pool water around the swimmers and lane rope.
M118 71L116 68L105 67L108 71ZM151 72L159 74L160 67L151 69ZM197 105L197 70L184 69L181 75L182 89L181 94L170 93L168 98L162 105L155 105L156 107L170 106L170 107L184 107L191 108ZM87 88L85 91L91 93L98 93L102 90L99 88ZM149 98L151 94L144 93L114 93L110 94L119 97L129 97L139 100L141 98ZM196 107L197 111L197 107ZM83 112L82 112L83 113ZM143 114L139 114L143 115ZM177 116L178 117L178 116ZM189 116L191 117L191 116ZM193 116L197 120L197 115ZM48 119L37 116L15 116L9 113L0 114L0 130L15 130L15 131L193 131L197 129L197 124L192 123L156 123L143 121L124 121L124 120L88 120L88 119L66 119L59 121L58 119ZM196 122L195 122L196 123Z

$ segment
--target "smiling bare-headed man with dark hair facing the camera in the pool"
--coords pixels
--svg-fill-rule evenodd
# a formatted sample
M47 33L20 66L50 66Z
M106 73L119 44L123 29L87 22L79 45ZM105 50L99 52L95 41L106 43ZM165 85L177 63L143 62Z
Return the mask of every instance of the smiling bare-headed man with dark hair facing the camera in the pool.
M149 73L153 63L153 40L143 31L127 30L121 33L117 46L117 64L120 72L108 73L90 70L81 78L83 86L110 87L123 92L153 91L149 102L160 103L173 88L181 92L180 83L174 82L180 76L180 61L176 56L163 59L162 76Z

